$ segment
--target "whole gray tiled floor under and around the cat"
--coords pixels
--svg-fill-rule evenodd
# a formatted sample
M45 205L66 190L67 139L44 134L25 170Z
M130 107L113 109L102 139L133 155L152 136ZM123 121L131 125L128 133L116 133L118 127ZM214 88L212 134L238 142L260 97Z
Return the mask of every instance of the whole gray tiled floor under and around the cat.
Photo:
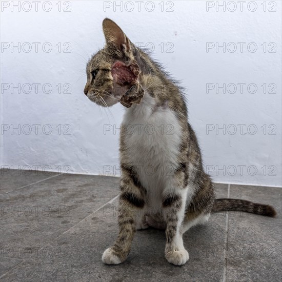
M281 281L281 188L216 184L217 197L271 204L278 216L213 214L185 233L182 267L167 263L165 234L154 229L136 232L124 264L106 266L118 181L2 170L1 281Z

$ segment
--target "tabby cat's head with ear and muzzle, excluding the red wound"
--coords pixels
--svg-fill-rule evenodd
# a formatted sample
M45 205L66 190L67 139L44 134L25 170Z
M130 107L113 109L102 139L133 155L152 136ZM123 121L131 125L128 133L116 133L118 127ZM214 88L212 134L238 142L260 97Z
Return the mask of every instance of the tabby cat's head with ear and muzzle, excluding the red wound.
M110 107L119 102L120 97L129 89L128 85L117 84L113 77L113 66L130 65L134 61L133 44L111 19L103 21L106 45L92 56L87 63L87 83L85 95L101 106Z

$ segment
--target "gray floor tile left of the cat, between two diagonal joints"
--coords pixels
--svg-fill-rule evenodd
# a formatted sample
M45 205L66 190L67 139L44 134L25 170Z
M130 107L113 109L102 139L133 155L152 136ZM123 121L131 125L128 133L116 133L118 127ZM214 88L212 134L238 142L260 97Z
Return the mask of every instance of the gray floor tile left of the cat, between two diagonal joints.
M118 182L117 177L59 175L3 195L2 247L11 252L44 247L116 196Z

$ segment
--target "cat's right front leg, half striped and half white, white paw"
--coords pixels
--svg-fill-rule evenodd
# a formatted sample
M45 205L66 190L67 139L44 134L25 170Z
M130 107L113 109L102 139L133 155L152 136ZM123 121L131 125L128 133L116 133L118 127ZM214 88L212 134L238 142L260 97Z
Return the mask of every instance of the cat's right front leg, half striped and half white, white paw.
M184 265L189 259L182 239L182 223L185 214L186 189L165 191L163 197L166 228L166 259L173 265Z

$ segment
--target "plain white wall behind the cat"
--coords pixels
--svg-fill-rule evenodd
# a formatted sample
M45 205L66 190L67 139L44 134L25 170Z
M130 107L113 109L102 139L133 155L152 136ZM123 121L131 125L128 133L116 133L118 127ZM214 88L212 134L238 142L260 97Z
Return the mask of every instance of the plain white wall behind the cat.
M45 6L39 4L37 12L34 3L31 7L25 4L21 11L16 7L11 11L17 1L7 3L2 1L1 4L4 48L1 51L2 167L30 169L37 166L42 170L50 166L57 171L57 166L62 166L65 171L64 166L69 166L73 173L88 174L105 174L105 166L117 166L118 169L119 132L111 130L104 134L104 126L109 124L118 128L124 108L115 105L110 109L103 108L100 114L98 106L83 93L86 77L82 75L85 74L87 56L103 48L102 21L109 17L124 29L132 42L148 43L149 48L153 43L153 57L182 81L189 100L190 123L197 133L205 166L216 182L281 186L280 1L271 1L266 7L262 1L256 2L257 7L254 2L247 6L247 1L243 3L242 11L235 1L237 9L234 12L230 11L234 6L228 1L225 2L225 12L223 8L215 7L223 4L217 1L163 2L165 10L172 12L162 11L160 1L154 2L151 12L147 10L151 10L152 5L146 2L140 4L140 11L136 2L130 2L123 12L118 7L114 9L113 3L112 7L106 8L110 2L102 1L72 1L69 8L68 2L61 2L62 9L70 12L58 12L57 1L52 1L49 12L43 10L49 9L48 3ZM173 7L170 8L171 3ZM131 4L134 10L130 12ZM10 6L6 8L7 5ZM214 7L207 11L207 5ZM31 11L26 12L29 8ZM18 42L26 52L18 52L16 48L11 50L11 45ZM40 43L38 52L33 42ZM42 50L46 42L52 45L50 53ZM225 52L223 49L216 52L215 48L207 52L207 42L211 42L211 46L216 42L219 45L233 42L237 51L232 53L234 45L229 44ZM246 43L242 44L243 52L238 42ZM249 51L253 50L254 44L247 49L252 42L257 46L256 52ZM271 42L276 44L275 53L268 52L274 46L268 46ZM30 51L28 43L32 47ZM62 45L61 52L58 52L58 43ZM63 46L64 43L67 44ZM70 53L65 53L63 50L68 43L71 44ZM266 52L261 46L264 43ZM9 48L5 49L7 44ZM171 44L172 52L166 52ZM48 44L45 50L48 50ZM28 84L34 83L41 84L38 93L35 93L35 87L31 93L24 93L29 91ZM42 85L46 83L52 85L50 94L42 91ZM210 90L207 94L207 83L219 87L224 83L235 84L238 89L233 94L223 94L222 90L218 93ZM238 84L242 83L246 86L240 93ZM264 83L267 93L261 87ZM11 93L11 84L27 85L24 91ZM59 94L58 84L70 84L71 93ZM249 84L257 86L256 93L248 92ZM275 93L268 93L272 88L269 84L275 84ZM7 87L10 88L6 90ZM232 88L229 90L233 91ZM253 91L252 86L250 91ZM34 124L39 125L38 132ZM242 127L242 133L239 124L246 125ZM11 130L18 125L20 132ZM52 127L51 134L43 133L43 128L45 133L49 130L45 125ZM58 125L62 126L61 134ZM211 129L208 132L207 125ZM216 125L225 125L225 134L216 132ZM232 125L237 129L233 135ZM64 135L69 127L70 135ZM250 134L255 129L257 132ZM234 168L237 170L235 174ZM45 170L48 171L48 167ZM118 172L111 170L108 174Z

